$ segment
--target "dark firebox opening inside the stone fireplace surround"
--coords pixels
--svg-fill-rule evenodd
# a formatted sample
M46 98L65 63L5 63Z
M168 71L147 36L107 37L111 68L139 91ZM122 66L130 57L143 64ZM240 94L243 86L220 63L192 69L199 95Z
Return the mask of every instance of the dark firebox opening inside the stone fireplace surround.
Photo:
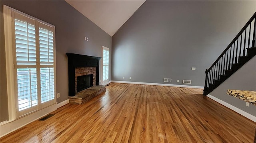
M76 90L80 92L86 88L93 86L93 74L77 76Z

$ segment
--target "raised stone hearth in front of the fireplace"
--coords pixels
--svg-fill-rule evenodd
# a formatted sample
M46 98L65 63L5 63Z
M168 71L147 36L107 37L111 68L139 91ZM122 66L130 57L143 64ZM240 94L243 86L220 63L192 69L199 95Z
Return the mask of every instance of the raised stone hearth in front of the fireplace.
M100 95L106 91L106 86L98 85L92 86L85 90L78 92L75 96L68 96L69 102L73 104L84 104L92 98Z

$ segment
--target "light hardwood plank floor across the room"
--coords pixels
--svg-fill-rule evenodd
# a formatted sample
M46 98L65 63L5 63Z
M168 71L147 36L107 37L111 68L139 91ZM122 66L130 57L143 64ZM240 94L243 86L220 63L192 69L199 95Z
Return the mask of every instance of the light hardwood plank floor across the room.
M167 86L111 83L86 104L52 114L1 143L252 143L256 128L201 89Z

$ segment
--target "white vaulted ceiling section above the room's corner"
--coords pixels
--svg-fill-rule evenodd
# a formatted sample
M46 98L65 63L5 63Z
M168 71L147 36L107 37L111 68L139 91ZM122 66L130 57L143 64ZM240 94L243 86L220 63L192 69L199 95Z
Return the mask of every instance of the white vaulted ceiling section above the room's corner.
M113 36L146 0L66 0L86 18Z

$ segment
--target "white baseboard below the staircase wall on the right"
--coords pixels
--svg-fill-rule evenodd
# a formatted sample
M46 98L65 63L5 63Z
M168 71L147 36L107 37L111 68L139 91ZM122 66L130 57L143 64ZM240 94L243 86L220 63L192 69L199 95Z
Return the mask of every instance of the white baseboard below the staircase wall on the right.
M211 98L212 100L214 100L214 101L216 101L216 102L218 102L218 103L220 103L220 104L226 106L227 108L230 108L230 109L233 110L234 112L237 112L238 114L241 114L242 116L244 116L244 117L246 117L246 118L248 118L248 119L250 119L250 120L256 122L256 117L255 117L255 116L253 116L253 115L251 115L251 114L249 114L249 113L247 113L247 112L244 112L243 110L241 110L241 109L239 109L239 108L236 108L235 106L233 106L233 105L231 105L231 104L228 104L227 102L224 102L224 101L222 101L222 100L220 100L220 99L218 99L218 98L216 98L216 97L214 97L214 96L212 96L212 95L210 95L210 94L208 94L207 97L209 97L209 98Z

